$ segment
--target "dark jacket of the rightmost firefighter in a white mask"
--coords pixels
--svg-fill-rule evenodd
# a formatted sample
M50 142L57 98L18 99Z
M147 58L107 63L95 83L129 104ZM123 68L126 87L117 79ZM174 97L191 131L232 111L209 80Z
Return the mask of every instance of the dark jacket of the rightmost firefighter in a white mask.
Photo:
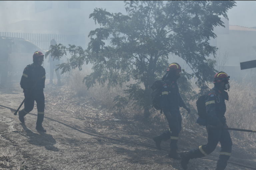
M225 124L225 100L228 100L228 93L216 86L212 89L214 91L211 90L205 95L205 106L207 112L206 123L212 126L217 125L219 122Z

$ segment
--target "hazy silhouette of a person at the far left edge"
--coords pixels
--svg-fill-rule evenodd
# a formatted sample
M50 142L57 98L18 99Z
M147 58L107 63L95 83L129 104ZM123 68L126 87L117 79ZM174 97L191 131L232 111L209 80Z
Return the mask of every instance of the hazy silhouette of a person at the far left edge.
M8 47L8 43L10 45L10 48ZM2 73L0 88L4 88L7 82L8 54L11 54L11 53L12 53L12 42L11 41L8 42L6 39L3 39L2 37L0 37L0 73Z

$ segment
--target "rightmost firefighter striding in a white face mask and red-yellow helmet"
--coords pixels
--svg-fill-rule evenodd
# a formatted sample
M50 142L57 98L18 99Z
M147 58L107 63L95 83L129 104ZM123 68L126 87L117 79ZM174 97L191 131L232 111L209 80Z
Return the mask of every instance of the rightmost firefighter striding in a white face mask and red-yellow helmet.
M227 127L224 114L226 112L225 100L228 100L226 90L230 88L229 78L230 76L222 71L215 74L213 91L206 93L205 105L207 112L206 123L207 125L216 126L216 128L207 128L206 126L208 132L208 143L206 145L181 152L181 166L183 169L187 169L190 159L204 157L212 153L218 142L221 144L221 150L215 170L224 170L226 168L232 150L230 134L227 129L224 129L224 127Z

